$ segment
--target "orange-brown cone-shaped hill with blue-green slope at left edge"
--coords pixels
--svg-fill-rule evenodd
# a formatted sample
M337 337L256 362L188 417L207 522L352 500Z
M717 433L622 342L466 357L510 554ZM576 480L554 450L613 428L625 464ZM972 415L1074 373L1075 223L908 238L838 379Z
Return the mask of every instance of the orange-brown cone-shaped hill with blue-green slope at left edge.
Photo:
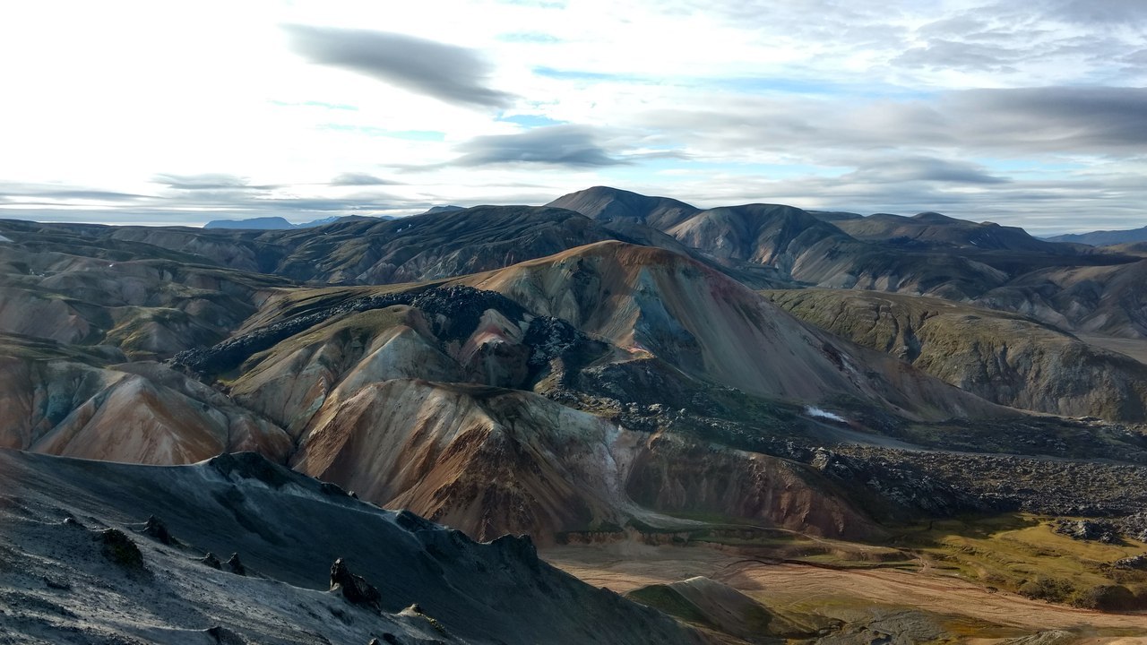
M9 334L0 349L0 448L138 464L291 451L274 423L162 365Z

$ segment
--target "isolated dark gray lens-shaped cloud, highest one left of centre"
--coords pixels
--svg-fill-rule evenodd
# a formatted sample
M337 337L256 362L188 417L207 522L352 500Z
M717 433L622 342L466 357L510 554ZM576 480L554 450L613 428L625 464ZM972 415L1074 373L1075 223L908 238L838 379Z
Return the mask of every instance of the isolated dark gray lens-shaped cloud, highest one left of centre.
M284 25L309 61L350 70L447 103L508 108L514 96L487 85L491 68L476 52L401 33Z

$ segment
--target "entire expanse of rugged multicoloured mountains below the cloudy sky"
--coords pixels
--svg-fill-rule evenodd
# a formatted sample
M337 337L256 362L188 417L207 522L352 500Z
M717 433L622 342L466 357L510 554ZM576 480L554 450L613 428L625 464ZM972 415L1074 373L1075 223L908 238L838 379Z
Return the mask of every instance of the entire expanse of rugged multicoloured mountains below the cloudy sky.
M29 640L868 643L888 620L863 591L778 605L747 569L696 573L697 553L954 567L977 589L1147 607L1147 573L1116 551L1087 546L1075 573L1054 559L1083 549L1055 522L1121 557L1147 537L1132 249L607 187L290 230L0 235L0 593L16 603L0 624ZM991 522L1021 537L976 528ZM1037 537L1033 564L999 565ZM587 580L614 566L601 554L660 564L610 573L640 582L624 599L535 546ZM326 592L338 558L383 601ZM102 578L115 603L69 596ZM905 630L955 634L902 609Z

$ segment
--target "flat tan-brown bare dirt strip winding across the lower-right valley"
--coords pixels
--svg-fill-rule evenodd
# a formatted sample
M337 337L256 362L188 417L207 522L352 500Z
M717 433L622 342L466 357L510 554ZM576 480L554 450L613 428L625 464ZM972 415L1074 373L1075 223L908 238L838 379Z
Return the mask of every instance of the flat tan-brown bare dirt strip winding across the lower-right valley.
M1147 614L1105 614L1029 600L1014 593L993 593L959 578L937 575L934 570L840 570L809 565L772 565L715 549L634 544L556 547L541 555L593 585L621 593L646 584L703 575L782 612L807 612L813 605L907 606L1032 631L1117 630L1129 637L1147 637ZM1099 642L1115 643L1109 638ZM1130 645L1147 643L1147 638L1123 638L1119 642Z

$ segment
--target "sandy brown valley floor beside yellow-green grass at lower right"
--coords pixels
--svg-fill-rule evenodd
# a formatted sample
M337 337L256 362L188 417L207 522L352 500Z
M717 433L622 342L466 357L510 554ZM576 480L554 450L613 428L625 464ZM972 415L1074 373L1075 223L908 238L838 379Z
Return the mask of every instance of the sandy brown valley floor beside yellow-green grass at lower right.
M619 593L692 576L723 582L786 617L819 616L848 623L897 613L927 616L965 643L1005 643L1066 630L1072 643L1147 643L1147 613L1108 614L1030 600L942 574L924 564L829 568L771 562L713 546L556 546L541 553L583 581Z

